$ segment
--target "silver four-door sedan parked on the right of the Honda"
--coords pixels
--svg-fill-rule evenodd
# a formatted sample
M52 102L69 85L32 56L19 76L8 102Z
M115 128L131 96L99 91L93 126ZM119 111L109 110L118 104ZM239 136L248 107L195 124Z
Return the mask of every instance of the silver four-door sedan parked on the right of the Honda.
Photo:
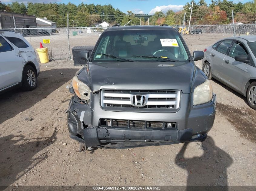
M256 110L256 36L228 37L204 49L204 74L247 97Z

